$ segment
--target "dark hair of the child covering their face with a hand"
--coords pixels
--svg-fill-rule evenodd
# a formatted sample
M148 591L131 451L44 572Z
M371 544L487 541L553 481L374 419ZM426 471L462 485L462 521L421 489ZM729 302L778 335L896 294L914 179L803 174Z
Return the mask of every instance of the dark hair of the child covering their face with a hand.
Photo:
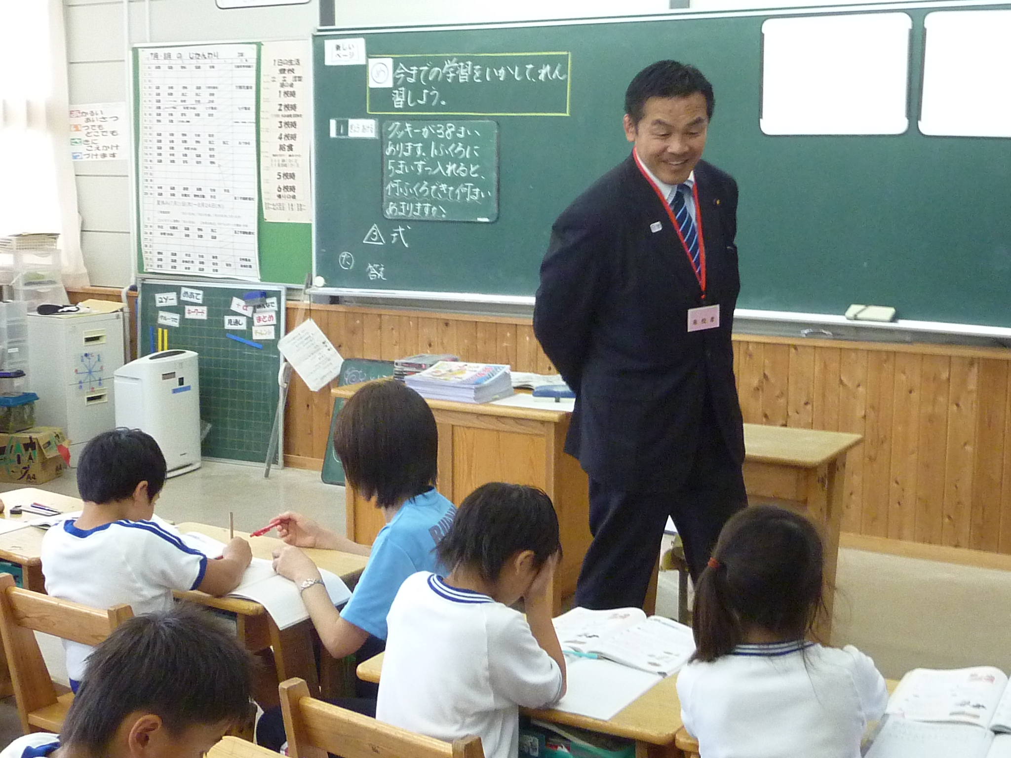
M493 583L510 556L532 550L540 568L561 549L558 516L543 490L489 482L463 499L436 551L447 569L469 566Z

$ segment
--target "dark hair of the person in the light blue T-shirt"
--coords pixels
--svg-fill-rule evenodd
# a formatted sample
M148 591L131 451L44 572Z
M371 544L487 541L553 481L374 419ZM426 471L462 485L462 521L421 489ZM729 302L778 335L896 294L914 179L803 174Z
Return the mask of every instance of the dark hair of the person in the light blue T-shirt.
M379 507L435 486L436 418L420 394L392 379L348 399L334 424L334 451L351 485Z

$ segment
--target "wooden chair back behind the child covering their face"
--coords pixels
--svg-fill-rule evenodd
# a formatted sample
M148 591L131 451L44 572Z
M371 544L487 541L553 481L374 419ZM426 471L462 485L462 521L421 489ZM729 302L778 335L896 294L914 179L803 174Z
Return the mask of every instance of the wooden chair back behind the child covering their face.
M288 755L293 758L484 758L481 740L452 743L381 724L375 719L309 697L302 679L278 687Z

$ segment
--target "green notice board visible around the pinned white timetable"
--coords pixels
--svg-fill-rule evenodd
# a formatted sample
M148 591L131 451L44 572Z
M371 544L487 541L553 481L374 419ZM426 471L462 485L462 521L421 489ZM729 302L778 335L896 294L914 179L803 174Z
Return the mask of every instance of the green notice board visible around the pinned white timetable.
M152 93L145 92L141 85L141 65L140 57L142 51L152 48L165 48L166 45L137 45L132 51L132 72L133 72L133 133L137 135L133 144L134 177L136 178L135 191L139 202L136 203L136 223L137 228L143 228L141 217L141 193L143 183L142 169L142 140L140 138L142 129L141 112L145 105L145 98L151 97ZM169 45L176 46L200 46L200 45ZM260 81L259 58L262 51L261 44L257 48L257 82ZM194 73L192 85L199 84L199 79ZM256 132L257 132L257 169L260 169L260 97L257 92L256 107ZM187 174L184 169L180 170L180 181L186 180ZM257 189L259 196L259 190ZM285 284L303 285L312 266L312 224L291 223L291 222L271 222L264 218L263 203L258 203L259 211L257 216L257 243L259 248L260 279L265 282L283 282ZM136 239L136 261L137 271L145 273L145 261L142 251L142 235ZM162 272L157 272L162 273ZM184 271L165 272L172 276L184 274Z

